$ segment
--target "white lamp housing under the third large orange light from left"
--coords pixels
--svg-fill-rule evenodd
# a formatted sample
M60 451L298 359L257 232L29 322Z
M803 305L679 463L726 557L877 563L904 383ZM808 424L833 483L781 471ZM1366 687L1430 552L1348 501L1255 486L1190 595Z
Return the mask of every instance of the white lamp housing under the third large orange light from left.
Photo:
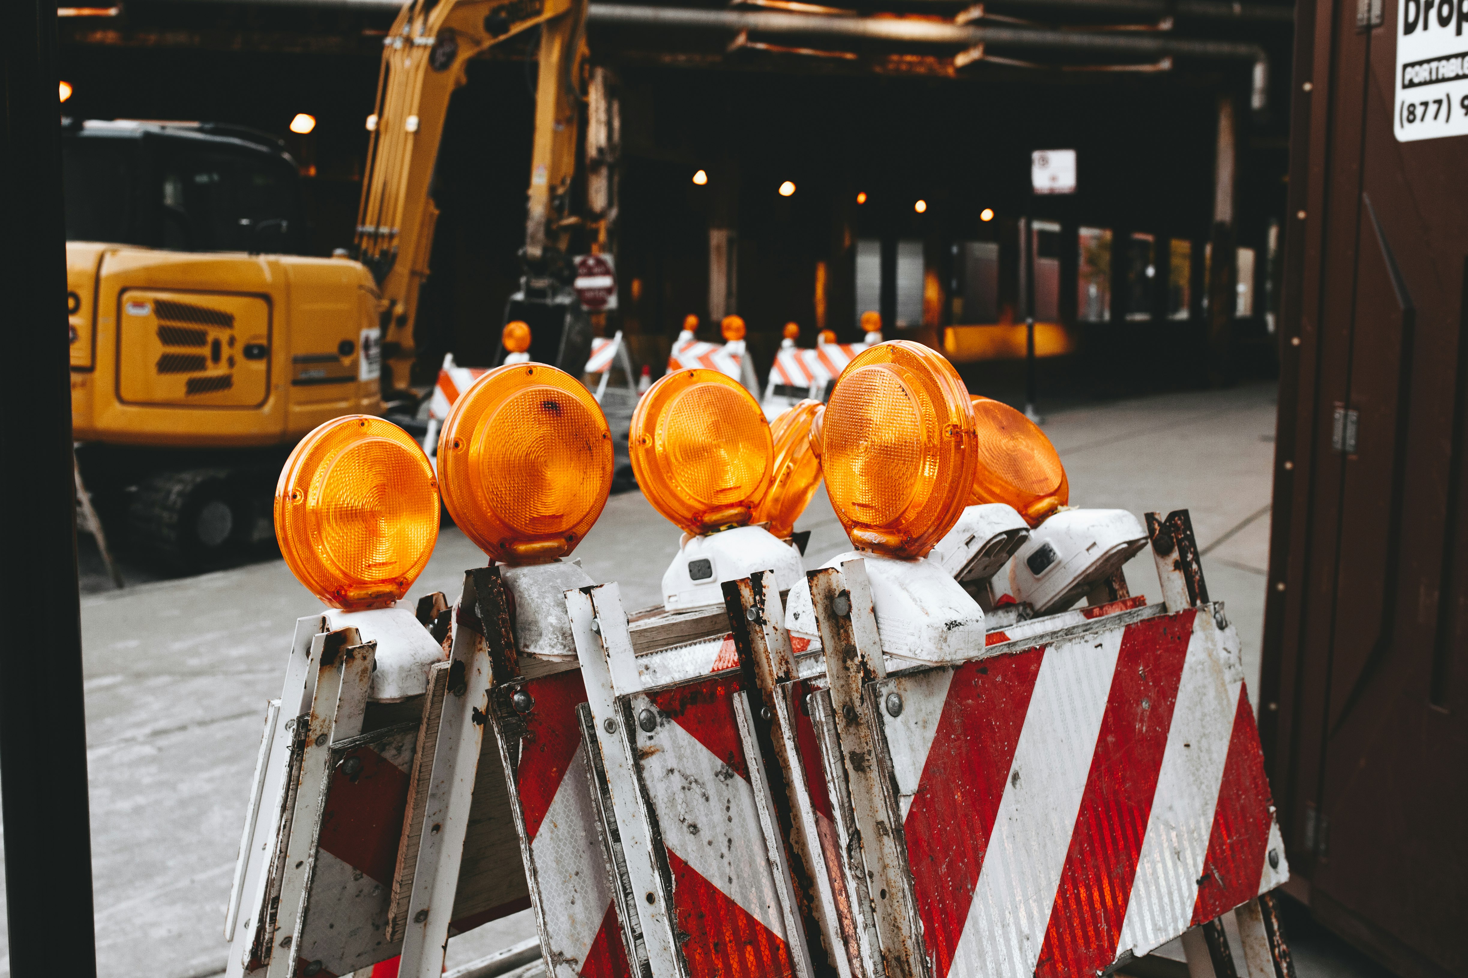
M763 526L735 526L688 537L662 575L664 607L684 611L724 604L724 589L719 585L747 578L756 570L774 570L781 591L804 588L806 570L800 551Z

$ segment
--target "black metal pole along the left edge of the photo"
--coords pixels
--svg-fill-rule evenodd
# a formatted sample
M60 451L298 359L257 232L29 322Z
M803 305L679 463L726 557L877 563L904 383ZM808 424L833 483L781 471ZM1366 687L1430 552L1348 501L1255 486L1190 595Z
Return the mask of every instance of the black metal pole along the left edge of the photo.
M0 185L7 343L23 364L0 393L4 629L0 790L10 974L95 975L87 724L68 352L66 232L54 0L19 0L0 40ZM65 963L59 963L65 962Z

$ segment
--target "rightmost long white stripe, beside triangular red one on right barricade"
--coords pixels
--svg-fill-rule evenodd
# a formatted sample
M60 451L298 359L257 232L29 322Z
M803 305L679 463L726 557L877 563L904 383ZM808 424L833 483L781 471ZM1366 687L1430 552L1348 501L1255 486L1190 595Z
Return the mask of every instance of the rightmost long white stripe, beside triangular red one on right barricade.
M1229 654L1218 648L1220 633L1211 626L1205 613L1193 622L1119 955L1142 956L1192 924L1239 702L1239 683L1229 682Z

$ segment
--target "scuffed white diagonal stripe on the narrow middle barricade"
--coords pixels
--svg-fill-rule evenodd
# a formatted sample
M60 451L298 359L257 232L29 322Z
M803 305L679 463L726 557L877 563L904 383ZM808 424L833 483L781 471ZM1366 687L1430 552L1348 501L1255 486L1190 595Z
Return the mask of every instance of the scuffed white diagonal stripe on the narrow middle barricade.
M652 707L643 701L639 708L643 705ZM652 733L639 730L637 739L656 748L642 751L642 771L664 845L784 940L780 899L749 782L677 721L664 718Z

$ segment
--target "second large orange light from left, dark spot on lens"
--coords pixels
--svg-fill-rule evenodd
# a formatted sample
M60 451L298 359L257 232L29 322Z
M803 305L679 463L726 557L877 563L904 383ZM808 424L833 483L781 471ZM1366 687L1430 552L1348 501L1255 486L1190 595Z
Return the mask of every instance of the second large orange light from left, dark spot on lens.
M549 563L586 537L612 490L612 433L592 393L546 364L468 389L439 435L443 504L493 560Z

